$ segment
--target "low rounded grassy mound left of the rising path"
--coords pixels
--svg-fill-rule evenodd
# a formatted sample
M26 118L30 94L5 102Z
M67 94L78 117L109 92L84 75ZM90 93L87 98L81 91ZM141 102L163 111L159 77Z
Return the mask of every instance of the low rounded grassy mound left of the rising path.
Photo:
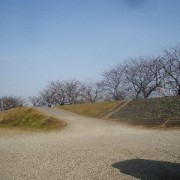
M63 121L47 116L33 108L13 108L0 113L0 127L53 130L63 126L65 126Z

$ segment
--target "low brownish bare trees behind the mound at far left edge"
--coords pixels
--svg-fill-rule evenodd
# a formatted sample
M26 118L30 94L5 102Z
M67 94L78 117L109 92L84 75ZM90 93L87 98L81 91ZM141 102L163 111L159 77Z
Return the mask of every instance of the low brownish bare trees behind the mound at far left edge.
M21 97L4 96L0 98L1 110L25 106L25 99Z

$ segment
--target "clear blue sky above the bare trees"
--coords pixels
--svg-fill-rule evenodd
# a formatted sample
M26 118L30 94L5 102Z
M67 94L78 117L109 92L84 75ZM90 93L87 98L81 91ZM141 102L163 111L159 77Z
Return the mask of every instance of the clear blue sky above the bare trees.
M0 96L49 80L99 80L180 43L180 0L0 0Z

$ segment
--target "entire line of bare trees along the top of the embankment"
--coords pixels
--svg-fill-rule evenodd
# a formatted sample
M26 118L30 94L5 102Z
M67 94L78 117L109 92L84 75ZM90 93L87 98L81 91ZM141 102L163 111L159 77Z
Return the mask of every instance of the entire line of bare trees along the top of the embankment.
M97 82L49 81L37 96L29 97L29 100L33 106L52 106L171 95L180 95L179 46L163 50L160 56L122 61L105 70ZM3 98L0 98L1 102Z

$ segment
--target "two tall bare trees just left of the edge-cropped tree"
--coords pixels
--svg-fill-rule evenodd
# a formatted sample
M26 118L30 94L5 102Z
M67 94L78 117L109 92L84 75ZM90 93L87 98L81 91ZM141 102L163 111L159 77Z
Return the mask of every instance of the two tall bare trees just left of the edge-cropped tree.
M161 58L140 57L119 64L103 74L106 90L115 100L148 98L163 84Z

